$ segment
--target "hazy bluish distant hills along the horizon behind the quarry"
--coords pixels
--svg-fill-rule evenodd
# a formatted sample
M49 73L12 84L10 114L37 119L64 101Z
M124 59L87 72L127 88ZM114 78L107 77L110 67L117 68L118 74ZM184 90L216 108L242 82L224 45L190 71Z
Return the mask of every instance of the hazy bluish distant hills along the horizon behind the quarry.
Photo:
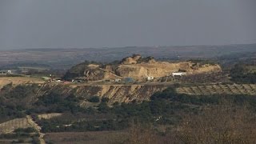
M132 54L143 57L184 60L190 58L219 58L256 53L256 44L227 46L130 46L116 48L85 49L27 49L0 50L0 66L16 63L38 63L54 69L69 69L77 63L87 61L113 62Z

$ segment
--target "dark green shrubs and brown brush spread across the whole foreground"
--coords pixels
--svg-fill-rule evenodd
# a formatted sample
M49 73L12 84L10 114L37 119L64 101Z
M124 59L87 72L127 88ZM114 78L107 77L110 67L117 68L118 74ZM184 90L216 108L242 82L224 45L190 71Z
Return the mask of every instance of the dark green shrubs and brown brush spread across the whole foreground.
M81 99L73 94L63 96L58 89L34 100L30 96L38 86L11 87L5 86L0 94L1 120L30 114L46 134L118 130L125 136L115 138L113 142L117 143L256 142L254 96L193 96L177 94L173 86L154 94L150 101L110 106L108 98L91 97L88 101L94 105L83 108L79 106ZM37 118L37 114L55 112L62 116L49 120ZM16 130L19 134L20 131ZM54 141L49 139L49 142Z

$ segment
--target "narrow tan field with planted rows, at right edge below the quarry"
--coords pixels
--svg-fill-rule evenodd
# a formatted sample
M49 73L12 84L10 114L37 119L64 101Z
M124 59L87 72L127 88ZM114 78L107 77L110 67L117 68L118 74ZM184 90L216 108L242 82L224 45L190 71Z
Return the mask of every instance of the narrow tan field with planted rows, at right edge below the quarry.
M202 86L186 86L177 89L179 94L210 95L210 94L246 94L256 95L256 85L250 84L217 84Z

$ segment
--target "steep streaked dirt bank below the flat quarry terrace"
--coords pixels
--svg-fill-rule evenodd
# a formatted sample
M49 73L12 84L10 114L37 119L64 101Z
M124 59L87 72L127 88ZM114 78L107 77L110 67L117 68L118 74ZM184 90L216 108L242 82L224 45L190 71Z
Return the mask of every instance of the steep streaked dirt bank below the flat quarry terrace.
M110 103L114 102L142 102L149 100L150 96L158 91L165 90L162 85L98 85L98 86L63 86L63 85L43 85L37 92L37 98L50 91L61 91L63 97L74 94L79 99L88 99L92 96L109 98ZM36 98L35 98L36 99ZM35 100L36 101L36 100Z

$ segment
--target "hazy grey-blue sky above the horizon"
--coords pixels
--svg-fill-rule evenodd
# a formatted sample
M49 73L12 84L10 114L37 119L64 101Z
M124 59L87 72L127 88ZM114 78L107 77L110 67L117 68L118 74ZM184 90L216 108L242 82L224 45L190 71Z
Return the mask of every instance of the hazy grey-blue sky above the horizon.
M255 0L0 0L0 49L256 43Z

